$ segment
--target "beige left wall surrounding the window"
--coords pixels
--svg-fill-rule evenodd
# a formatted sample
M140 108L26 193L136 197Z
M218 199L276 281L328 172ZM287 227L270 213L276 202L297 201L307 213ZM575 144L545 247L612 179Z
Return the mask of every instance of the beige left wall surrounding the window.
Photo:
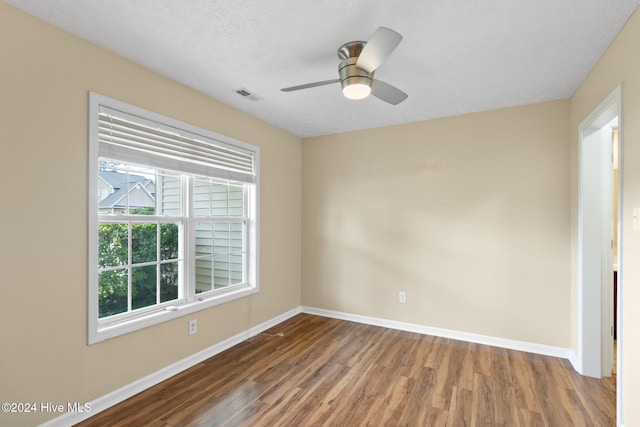
M89 91L260 147L260 294L86 345ZM2 2L0 99L2 401L90 401L300 305L299 138Z

